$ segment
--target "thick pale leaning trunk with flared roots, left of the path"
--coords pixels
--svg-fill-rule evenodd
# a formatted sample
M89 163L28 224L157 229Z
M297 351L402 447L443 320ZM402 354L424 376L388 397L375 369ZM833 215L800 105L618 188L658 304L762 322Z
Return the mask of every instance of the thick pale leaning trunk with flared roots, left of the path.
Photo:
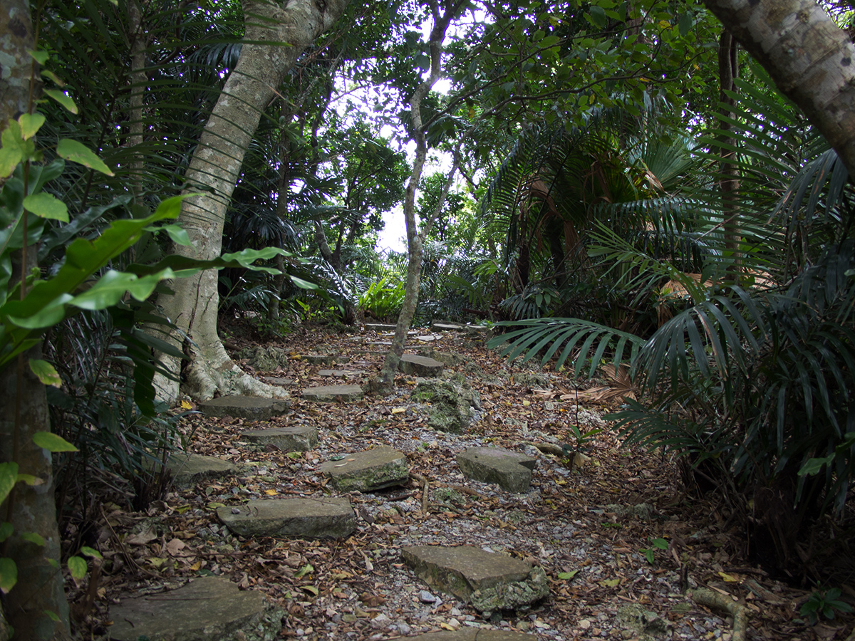
M220 256L228 204L262 112L300 53L333 26L347 2L292 0L280 9L273 2L245 0L245 44L186 174L189 190L204 194L187 198L179 217L192 246L176 247L176 253L201 259ZM185 372L188 393L202 399L215 391L266 397L284 394L279 387L263 385L242 372L223 349L216 332L219 296L215 271L177 279L173 289L174 295L159 297L158 303L192 341L186 342L191 359ZM179 363L164 360L177 374ZM174 403L178 383L159 377L156 384L162 400Z

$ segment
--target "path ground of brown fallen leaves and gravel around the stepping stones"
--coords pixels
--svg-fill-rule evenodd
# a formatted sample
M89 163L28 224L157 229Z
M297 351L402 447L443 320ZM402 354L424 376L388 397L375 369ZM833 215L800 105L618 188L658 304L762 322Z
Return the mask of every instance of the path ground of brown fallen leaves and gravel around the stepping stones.
M624 606L640 604L652 613L650 620L664 624L655 638L728 641L733 620L685 595L697 586L746 608L746 638L843 639L852 631L851 617L817 626L799 620L810 592L772 580L746 561L745 541L738 530L727 529L733 526L720 499L687 494L676 462L660 452L622 447L602 418L619 397L595 403L592 395L580 396L590 382L577 389L565 373L509 364L477 337L432 338L413 337L408 351L460 356L444 375L463 374L481 397L482 409L463 434L428 427L431 409L410 400L416 383L410 376L398 377L392 397L301 400L306 387L340 381L321 378L318 371L329 366L310 365L298 355L335 350L342 362L334 367L369 374L379 371L384 357L386 345L378 343L388 337L323 328L281 338L275 345L288 352L287 367L257 373L294 380L291 410L262 426L315 426L315 450L253 448L239 436L260 426L251 421L200 414L182 419L187 450L245 463L249 471L169 491L144 512L103 504L97 522L103 569L94 581L72 586L78 629L97 638L109 625L109 604L216 574L279 603L287 613L282 638L375 640L462 626L527 632L541 641L650 638L619 616ZM228 346L247 344L232 337ZM367 377L347 382L364 384ZM573 425L583 433L602 429L585 444L586 460L575 466L560 454L561 444L575 443ZM512 494L463 476L457 453L486 444L537 457L530 491ZM334 496L316 468L333 456L378 445L406 454L410 483L347 495L358 518L350 538L244 539L217 519L217 507L247 499ZM551 596L528 611L483 620L404 566L400 550L412 544L479 545L525 559L545 569Z

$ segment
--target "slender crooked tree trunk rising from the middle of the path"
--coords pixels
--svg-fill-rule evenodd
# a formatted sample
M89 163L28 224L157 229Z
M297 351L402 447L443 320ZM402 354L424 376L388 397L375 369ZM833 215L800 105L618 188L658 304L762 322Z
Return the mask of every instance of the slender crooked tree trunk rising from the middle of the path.
M407 339L407 331L413 316L416 315L416 304L419 301L419 283L422 278L422 256L424 240L428 235L433 219L422 221L422 232L416 226L416 189L419 180L422 179L422 168L428 156L428 141L422 123L422 100L428 95L433 85L439 79L442 58L442 42L445 40L445 32L451 19L464 3L453 2L445 8L445 13L440 14L435 3L431 4L433 13L433 29L431 30L428 44L430 46L431 67L428 79L416 88L410 97L410 119L413 127L413 137L416 140L416 158L413 161L413 169L410 172L410 180L404 191L404 224L407 229L407 280L404 288L404 305L398 315L398 325L395 327L395 336L392 338L392 347L386 353L386 361L380 370L380 377L371 381L371 388L380 394L389 394L394 389L395 373L398 371L398 363L404 355L404 343ZM457 164L451 169L445 189L439 197L439 203L433 214L438 215L442 211L445 196L454 179Z

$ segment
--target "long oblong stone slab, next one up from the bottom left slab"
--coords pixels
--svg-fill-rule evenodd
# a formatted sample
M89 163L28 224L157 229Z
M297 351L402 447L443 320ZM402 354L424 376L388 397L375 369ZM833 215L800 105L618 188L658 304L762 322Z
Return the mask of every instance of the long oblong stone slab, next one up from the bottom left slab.
M242 537L345 538L357 529L351 501L343 497L263 498L216 512Z

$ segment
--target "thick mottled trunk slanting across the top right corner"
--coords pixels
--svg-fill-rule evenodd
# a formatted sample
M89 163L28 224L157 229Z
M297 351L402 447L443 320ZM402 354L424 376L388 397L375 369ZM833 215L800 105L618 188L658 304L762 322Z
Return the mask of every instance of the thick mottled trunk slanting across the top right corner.
M855 176L855 46L813 0L705 0Z

